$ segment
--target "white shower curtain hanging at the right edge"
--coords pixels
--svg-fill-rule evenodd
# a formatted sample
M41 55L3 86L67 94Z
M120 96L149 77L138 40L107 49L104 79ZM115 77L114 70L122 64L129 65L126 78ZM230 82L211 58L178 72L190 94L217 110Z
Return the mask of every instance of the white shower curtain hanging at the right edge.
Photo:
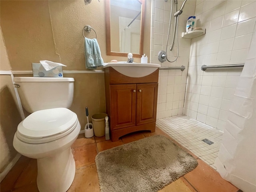
M256 192L256 33L234 94L217 171L244 192Z

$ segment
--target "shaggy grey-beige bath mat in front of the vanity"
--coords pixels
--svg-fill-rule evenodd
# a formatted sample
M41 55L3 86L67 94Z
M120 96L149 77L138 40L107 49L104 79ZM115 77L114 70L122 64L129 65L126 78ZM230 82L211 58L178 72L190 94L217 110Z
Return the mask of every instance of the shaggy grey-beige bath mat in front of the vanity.
M157 192L198 165L162 135L99 152L95 162L101 192Z

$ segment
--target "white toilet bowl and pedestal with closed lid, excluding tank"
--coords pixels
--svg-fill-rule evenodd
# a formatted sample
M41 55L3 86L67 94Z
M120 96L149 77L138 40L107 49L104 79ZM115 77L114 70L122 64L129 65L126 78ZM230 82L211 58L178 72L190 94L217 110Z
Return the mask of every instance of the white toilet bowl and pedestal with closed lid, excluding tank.
M80 128L76 114L67 108L36 111L18 125L13 146L37 159L40 192L65 192L71 186L76 169L70 146Z

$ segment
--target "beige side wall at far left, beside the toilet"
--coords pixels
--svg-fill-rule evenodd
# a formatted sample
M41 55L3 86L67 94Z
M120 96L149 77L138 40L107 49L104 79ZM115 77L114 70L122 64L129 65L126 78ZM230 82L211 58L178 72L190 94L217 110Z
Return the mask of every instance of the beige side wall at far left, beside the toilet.
M0 70L10 70L6 48L0 30ZM10 75L0 75L0 172L16 156L17 152L12 146L14 133L21 121L17 109L14 88Z

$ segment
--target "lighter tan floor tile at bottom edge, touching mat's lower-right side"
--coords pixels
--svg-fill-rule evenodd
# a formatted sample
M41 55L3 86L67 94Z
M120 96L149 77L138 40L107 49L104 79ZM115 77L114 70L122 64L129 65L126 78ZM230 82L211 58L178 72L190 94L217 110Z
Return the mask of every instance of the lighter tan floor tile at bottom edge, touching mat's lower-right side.
M180 177L174 182L162 188L159 192L197 192L192 186L183 178Z

